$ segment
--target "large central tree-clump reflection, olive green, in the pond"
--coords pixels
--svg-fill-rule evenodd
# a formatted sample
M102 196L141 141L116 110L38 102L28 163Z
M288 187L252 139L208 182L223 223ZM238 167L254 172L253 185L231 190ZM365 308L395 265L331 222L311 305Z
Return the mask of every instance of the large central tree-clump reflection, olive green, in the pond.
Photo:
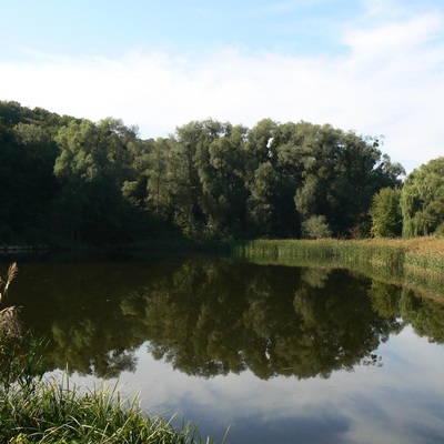
M329 376L369 361L398 329L396 320L372 310L371 281L344 274L189 263L163 287L145 287L124 306L131 313L143 306L137 317L144 316L150 352L188 374L250 369L261 379Z

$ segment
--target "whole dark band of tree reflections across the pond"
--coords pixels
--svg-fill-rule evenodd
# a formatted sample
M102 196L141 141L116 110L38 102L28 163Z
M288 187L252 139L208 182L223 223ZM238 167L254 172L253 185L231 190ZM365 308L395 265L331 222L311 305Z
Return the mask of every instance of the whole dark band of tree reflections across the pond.
M403 322L444 342L442 305L345 271L200 259L58 272L34 285L39 304L22 303L27 324L51 339L50 369L117 376L149 341L190 375L327 377L380 363L374 351Z

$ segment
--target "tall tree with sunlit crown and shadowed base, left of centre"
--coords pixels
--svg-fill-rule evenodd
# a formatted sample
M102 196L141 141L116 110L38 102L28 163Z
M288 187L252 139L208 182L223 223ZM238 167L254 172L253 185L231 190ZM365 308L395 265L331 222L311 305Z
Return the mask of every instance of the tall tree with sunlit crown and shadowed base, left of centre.
M54 211L59 220L69 221L58 226L62 235L102 242L128 233L121 188L130 175L128 144L134 138L134 130L113 119L71 122L60 129L54 174L62 190Z

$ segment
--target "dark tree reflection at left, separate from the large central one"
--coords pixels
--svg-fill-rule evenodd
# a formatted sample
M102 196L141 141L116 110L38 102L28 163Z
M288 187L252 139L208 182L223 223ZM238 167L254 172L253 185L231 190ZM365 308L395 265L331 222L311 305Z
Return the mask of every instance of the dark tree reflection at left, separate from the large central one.
M21 266L14 300L34 334L48 339L46 365L98 376L135 369L138 337L121 302L134 287L176 266L41 264Z

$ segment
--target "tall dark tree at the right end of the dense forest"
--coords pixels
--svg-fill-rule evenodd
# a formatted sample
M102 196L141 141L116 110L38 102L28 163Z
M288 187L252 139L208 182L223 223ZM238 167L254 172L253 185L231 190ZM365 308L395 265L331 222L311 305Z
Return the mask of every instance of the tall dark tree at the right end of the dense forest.
M373 195L400 184L397 165L382 158L375 140L354 132L305 122L300 132L304 171L295 202L303 220L323 215L336 236L370 229Z

